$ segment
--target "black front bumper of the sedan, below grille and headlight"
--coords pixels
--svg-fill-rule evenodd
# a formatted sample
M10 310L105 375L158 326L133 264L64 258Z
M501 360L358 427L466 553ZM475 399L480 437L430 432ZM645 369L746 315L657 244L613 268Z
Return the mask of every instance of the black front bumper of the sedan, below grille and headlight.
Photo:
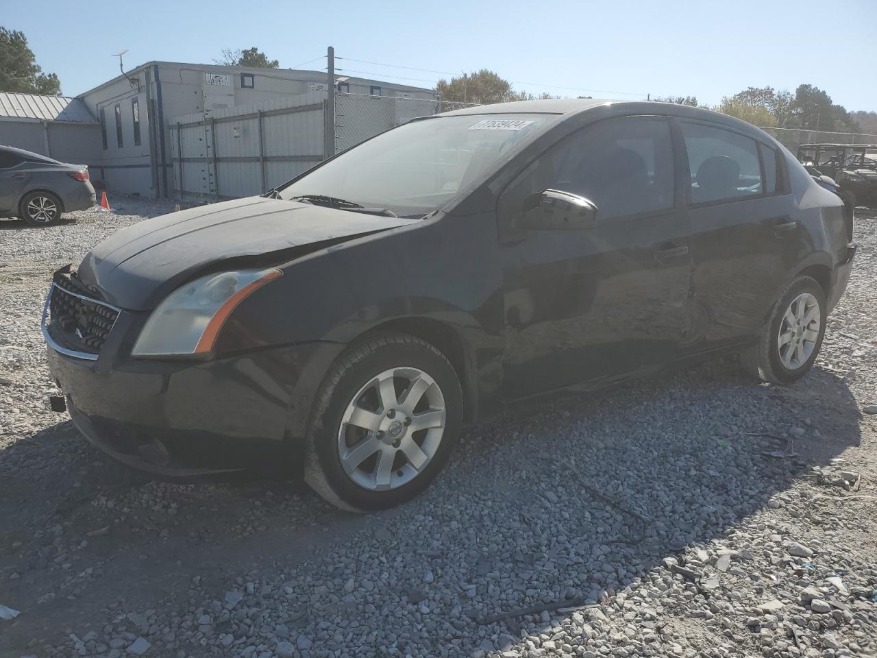
M95 361L48 347L70 417L96 447L153 476L193 482L243 471L301 472L298 379L320 344L213 361Z

